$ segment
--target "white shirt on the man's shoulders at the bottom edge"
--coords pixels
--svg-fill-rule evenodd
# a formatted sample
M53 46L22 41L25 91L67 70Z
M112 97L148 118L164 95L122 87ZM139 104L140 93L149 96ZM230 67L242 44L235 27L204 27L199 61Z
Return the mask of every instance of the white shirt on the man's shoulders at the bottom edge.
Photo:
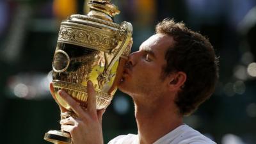
M117 136L108 144L139 144L138 134L127 134ZM165 134L152 144L216 144L200 132L189 127L180 125L173 131Z

